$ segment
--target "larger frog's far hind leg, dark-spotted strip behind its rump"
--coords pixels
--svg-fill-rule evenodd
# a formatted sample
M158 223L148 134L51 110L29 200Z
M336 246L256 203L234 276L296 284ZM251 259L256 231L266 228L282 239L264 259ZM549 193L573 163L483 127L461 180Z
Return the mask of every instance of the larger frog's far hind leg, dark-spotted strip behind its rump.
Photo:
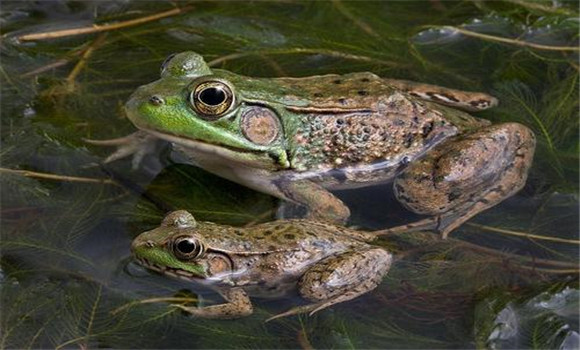
M408 80L385 79L385 81L411 96L466 111L477 112L498 104L495 97L481 92L448 89Z

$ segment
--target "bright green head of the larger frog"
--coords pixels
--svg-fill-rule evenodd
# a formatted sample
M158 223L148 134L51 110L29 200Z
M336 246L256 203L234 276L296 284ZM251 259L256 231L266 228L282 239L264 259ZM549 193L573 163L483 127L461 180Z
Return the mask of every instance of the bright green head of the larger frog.
M263 92L262 98L246 96L248 90ZM161 79L137 89L125 109L138 128L168 141L243 164L285 168L279 108L268 98L271 91L263 81L212 71L200 55L182 52L169 56Z

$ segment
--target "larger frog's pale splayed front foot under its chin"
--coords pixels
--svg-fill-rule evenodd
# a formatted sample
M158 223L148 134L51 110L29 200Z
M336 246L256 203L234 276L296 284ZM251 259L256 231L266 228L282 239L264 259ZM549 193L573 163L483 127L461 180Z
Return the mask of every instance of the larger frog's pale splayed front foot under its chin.
M132 156L131 165L133 169L139 167L145 155L155 150L158 141L155 136L145 131L137 131L130 135L110 140L83 140L91 145L117 147L117 150L108 156L103 163L106 164Z

